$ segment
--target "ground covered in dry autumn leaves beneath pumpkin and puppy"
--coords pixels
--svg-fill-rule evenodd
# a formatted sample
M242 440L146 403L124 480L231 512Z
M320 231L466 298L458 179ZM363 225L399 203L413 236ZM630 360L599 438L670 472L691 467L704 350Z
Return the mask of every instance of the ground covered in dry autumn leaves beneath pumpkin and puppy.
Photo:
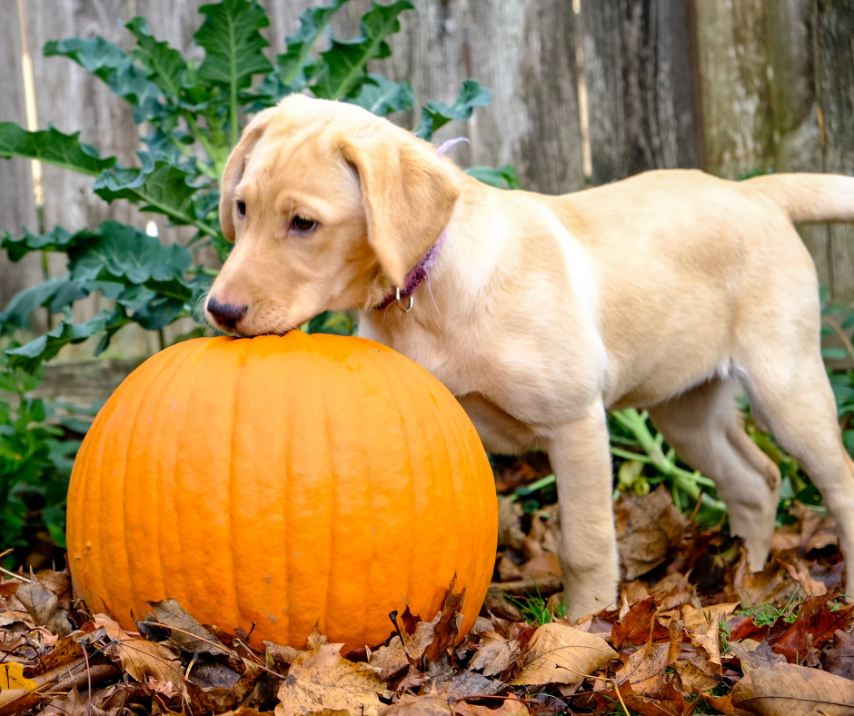
M763 572L660 488L616 503L619 608L561 619L554 506L501 498L495 579L472 633L453 585L375 650L315 629L304 651L157 602L136 632L74 602L65 572L0 582L0 716L854 716L854 607L833 522L796 504ZM390 622L391 629L391 622Z

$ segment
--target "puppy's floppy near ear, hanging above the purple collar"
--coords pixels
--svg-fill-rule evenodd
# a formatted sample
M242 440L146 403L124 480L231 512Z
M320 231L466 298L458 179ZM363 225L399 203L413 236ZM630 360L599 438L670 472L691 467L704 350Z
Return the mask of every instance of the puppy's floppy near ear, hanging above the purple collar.
M392 285L435 244L460 195L452 164L409 133L383 131L343 140L343 158L359 174L368 243Z

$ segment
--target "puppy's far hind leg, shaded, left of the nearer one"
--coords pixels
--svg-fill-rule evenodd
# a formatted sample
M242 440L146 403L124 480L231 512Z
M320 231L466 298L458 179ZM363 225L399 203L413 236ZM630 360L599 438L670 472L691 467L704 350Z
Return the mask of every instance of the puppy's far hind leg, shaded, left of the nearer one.
M744 539L750 569L765 564L774 534L780 471L744 432L740 384L713 378L650 408L650 417L680 458L710 477Z

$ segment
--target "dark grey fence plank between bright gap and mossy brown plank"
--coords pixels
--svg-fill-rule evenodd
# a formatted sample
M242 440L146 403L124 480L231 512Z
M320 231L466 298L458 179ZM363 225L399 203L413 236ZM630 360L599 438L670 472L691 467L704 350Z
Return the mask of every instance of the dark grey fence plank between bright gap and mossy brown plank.
M593 184L698 165L685 0L581 3Z

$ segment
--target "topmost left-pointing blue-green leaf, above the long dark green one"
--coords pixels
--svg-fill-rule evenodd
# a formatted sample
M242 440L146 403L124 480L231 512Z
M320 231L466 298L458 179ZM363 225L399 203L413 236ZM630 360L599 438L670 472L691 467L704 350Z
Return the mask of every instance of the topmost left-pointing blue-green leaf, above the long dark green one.
M132 105L137 124L163 114L164 108L158 99L160 88L149 81L148 74L134 65L118 45L103 37L66 37L45 45L45 57L54 55L74 60L103 80L114 94Z

